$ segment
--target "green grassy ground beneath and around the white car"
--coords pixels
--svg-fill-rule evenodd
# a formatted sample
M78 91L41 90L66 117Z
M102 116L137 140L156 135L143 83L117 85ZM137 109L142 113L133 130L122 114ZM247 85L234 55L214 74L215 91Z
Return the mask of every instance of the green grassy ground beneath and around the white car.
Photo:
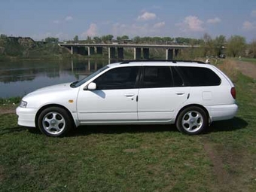
M256 84L236 76L238 114L200 136L175 126L82 126L53 139L2 114L0 191L255 191Z

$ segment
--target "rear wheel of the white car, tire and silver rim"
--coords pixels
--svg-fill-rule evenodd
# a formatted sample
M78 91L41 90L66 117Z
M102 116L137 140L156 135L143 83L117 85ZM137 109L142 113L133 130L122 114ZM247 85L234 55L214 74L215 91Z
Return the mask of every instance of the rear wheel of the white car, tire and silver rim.
M176 126L181 133L197 135L208 126L208 117L203 108L190 106L184 108L176 120Z

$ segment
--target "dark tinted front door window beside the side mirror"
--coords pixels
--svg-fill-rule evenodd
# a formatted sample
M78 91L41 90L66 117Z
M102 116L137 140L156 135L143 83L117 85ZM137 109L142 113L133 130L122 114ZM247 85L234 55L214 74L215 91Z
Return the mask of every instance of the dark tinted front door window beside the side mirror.
M120 90L136 88L139 67L119 67L110 69L93 82L97 90Z

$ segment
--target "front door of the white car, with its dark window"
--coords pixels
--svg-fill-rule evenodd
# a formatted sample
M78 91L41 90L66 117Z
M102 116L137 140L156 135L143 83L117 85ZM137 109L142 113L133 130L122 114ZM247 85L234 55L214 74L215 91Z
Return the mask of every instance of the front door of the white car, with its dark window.
M137 81L139 67L108 70L93 82L96 90L78 93L78 120L81 122L117 122L138 120Z

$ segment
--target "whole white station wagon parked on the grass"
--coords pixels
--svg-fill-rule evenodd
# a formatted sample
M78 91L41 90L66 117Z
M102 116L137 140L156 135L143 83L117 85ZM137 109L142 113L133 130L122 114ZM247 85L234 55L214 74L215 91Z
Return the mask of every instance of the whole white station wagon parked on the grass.
M81 125L172 124L201 133L237 111L233 83L215 66L195 61L113 63L68 84L35 90L17 108L18 124L47 136Z

